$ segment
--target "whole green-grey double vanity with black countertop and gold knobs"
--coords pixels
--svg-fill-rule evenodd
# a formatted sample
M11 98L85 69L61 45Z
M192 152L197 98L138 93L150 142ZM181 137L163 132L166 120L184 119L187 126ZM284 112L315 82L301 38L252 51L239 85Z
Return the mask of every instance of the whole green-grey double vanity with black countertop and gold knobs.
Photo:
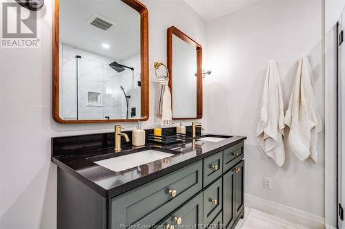
M124 144L119 153L112 149L113 137L52 138L58 229L235 228L244 216L245 137L199 135L170 146ZM161 159L155 160L159 153ZM143 155L144 163L134 154ZM135 167L126 168L126 158Z

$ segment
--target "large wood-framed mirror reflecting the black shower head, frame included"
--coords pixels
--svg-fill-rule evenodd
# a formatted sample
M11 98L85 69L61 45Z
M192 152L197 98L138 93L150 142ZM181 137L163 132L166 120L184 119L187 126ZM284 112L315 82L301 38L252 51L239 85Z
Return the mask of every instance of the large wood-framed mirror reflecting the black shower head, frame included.
M146 7L137 0L55 0L53 19L55 121L148 120Z

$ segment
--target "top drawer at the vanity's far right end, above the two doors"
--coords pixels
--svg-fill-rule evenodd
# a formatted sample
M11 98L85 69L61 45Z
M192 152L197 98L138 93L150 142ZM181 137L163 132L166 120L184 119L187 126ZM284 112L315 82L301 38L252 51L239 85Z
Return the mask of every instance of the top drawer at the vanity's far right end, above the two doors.
M243 158L244 142L231 146L223 151L223 171L228 171L229 168L235 166ZM235 160L236 159L236 160Z

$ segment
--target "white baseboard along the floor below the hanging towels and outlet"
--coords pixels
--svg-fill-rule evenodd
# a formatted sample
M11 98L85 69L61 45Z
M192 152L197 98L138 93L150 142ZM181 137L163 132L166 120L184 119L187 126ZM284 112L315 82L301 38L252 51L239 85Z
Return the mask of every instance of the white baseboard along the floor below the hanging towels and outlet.
M324 229L324 218L313 215L302 210L291 208L282 204L277 204L273 201L268 201L253 195L245 194L244 203L249 208L255 208L270 215L285 219L292 223L297 223L301 226L311 229ZM328 228L328 227L327 227ZM333 227L329 227L332 229Z

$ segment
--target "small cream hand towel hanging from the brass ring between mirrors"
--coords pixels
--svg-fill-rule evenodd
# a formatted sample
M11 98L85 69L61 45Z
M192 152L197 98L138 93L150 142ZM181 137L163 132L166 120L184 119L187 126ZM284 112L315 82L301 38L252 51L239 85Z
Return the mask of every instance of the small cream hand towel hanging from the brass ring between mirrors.
M164 63L155 62L155 75L161 85L161 91L159 94L159 100L157 102L156 117L164 124L170 124L172 122L171 111L171 93L168 87L169 72Z

